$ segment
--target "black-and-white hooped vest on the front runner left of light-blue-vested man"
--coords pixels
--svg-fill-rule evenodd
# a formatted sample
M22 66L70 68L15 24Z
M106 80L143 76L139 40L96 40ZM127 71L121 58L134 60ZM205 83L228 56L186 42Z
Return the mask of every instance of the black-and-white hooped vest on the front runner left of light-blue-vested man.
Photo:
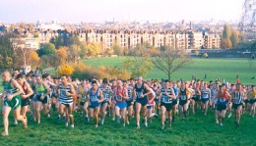
M68 83L66 87L63 86L62 83L59 84L59 99L63 104L71 104L73 103L73 96L67 96L66 92L71 92L71 83Z

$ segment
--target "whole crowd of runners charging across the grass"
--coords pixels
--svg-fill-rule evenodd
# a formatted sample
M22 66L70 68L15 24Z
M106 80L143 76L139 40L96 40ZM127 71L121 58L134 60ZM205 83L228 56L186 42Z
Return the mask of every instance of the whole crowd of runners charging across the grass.
M239 126L241 116L248 111L255 116L256 87L221 82L220 79L205 82L192 79L143 80L142 76L128 80L96 78L92 80L72 79L69 75L53 77L48 73L26 75L4 72L2 74L4 92L1 95L4 132L9 134L9 114L14 110L15 124L23 122L28 126L27 116L40 124L41 115L50 118L56 112L57 122L65 121L65 126L74 128L74 112L80 112L86 122L103 125L109 118L123 126L136 121L148 126L154 117L160 117L160 127L165 124L171 129L175 116L182 119L195 115L196 111L208 115L209 109L215 110L215 119L224 125L225 114L234 115Z

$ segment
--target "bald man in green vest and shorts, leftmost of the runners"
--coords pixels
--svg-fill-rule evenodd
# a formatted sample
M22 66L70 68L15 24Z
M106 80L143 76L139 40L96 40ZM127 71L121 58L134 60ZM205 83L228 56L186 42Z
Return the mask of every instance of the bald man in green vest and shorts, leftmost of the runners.
M14 110L15 119L22 121L24 127L27 127L27 118L21 115L21 94L24 92L22 86L11 77L9 72L4 72L2 74L3 87L4 87L4 106L3 106L3 123L4 123L4 132L2 136L9 135L8 126L9 126L9 114L11 110Z

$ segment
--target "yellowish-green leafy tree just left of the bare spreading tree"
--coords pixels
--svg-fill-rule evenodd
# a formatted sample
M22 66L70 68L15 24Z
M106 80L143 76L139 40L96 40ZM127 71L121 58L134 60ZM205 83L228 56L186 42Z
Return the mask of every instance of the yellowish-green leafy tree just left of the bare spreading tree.
M138 57L133 56L127 58L123 63L124 69L128 69L132 76L147 76L147 74L153 70L153 64L149 56Z

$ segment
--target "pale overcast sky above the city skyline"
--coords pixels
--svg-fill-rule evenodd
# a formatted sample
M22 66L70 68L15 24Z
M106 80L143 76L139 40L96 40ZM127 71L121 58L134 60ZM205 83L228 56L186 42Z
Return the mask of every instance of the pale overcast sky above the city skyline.
M244 0L0 0L4 23L238 21Z

